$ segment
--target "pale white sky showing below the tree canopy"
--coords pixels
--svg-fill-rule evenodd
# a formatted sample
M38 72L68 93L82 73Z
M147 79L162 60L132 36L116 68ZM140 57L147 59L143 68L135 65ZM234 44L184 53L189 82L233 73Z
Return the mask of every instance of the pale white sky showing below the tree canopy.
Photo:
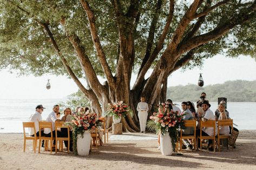
M197 84L202 73L205 86L222 84L228 80L256 80L256 62L251 57L226 58L218 55L205 60L202 69L174 72L168 78L168 86ZM146 76L149 76L148 73ZM78 90L73 80L64 76L45 75L42 77L21 76L7 70L0 70L0 99L63 99ZM136 76L132 76L131 84ZM47 90L50 79L51 89ZM85 84L84 80L81 80ZM100 78L101 83L104 79Z

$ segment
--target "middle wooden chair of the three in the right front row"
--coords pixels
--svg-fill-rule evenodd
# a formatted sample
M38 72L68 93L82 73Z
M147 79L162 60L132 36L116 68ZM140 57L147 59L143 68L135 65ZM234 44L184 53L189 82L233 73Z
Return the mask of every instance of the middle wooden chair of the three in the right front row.
M202 136L202 128L203 127L213 127L213 135L212 136ZM200 121L200 136L198 138L200 139L200 150L202 151L202 139L212 139L213 140L213 152L215 153L215 130L216 130L216 121L215 120L207 120L207 121ZM198 142L198 138L196 139L196 142ZM197 147L197 146L196 146Z

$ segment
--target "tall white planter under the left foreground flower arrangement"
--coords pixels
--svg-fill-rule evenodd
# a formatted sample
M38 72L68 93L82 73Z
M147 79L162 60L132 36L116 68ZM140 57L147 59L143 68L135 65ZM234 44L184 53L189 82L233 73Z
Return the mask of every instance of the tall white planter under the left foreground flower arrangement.
M89 132L84 132L83 138L81 134L77 135L77 154L80 156L89 155L90 145L91 145L91 134Z

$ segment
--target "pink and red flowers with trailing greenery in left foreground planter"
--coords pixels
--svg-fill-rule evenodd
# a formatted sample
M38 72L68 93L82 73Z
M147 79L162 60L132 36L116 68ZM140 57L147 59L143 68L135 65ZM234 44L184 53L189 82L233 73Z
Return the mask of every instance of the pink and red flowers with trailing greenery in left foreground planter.
M67 122L65 125L71 127L73 132L73 153L77 155L77 135L81 134L83 138L84 132L90 133L91 130L95 130L97 126L100 126L100 121L96 113L85 114L83 112L72 115L71 119L71 122Z

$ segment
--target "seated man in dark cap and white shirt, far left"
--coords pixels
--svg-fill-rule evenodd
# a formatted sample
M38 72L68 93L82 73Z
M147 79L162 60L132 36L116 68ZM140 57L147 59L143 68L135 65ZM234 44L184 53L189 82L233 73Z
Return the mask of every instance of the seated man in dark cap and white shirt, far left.
M34 114L31 114L29 117L29 121L35 123L37 137L39 137L39 122L43 120L42 119L43 109L44 109L43 105L37 105L36 112ZM41 130L41 134L44 135L43 130ZM35 137L34 128L29 128L29 135L31 135L31 137ZM44 140L42 141L42 147L44 147Z

